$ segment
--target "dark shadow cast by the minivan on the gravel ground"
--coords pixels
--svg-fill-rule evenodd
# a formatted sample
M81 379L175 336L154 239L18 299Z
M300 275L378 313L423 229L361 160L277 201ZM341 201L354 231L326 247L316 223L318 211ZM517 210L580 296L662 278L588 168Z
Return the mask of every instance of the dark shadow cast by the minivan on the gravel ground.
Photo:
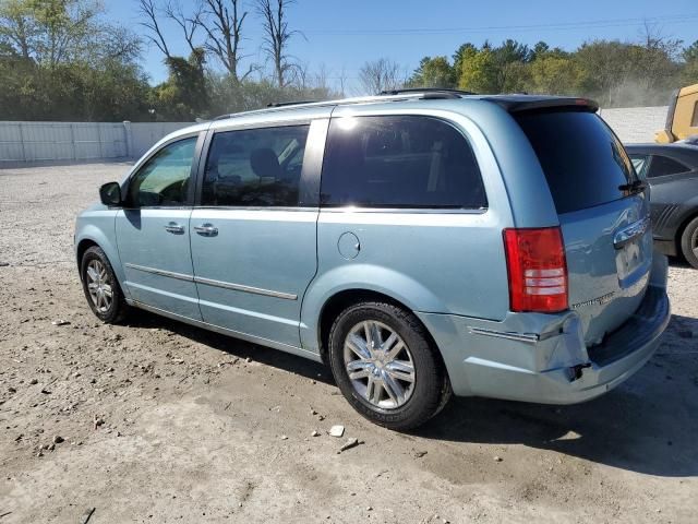
M282 352L149 313L131 324L171 330L239 358L334 383L327 367ZM673 315L648 365L599 398L573 406L453 398L412 434L452 442L525 444L658 476L698 475L698 319Z

